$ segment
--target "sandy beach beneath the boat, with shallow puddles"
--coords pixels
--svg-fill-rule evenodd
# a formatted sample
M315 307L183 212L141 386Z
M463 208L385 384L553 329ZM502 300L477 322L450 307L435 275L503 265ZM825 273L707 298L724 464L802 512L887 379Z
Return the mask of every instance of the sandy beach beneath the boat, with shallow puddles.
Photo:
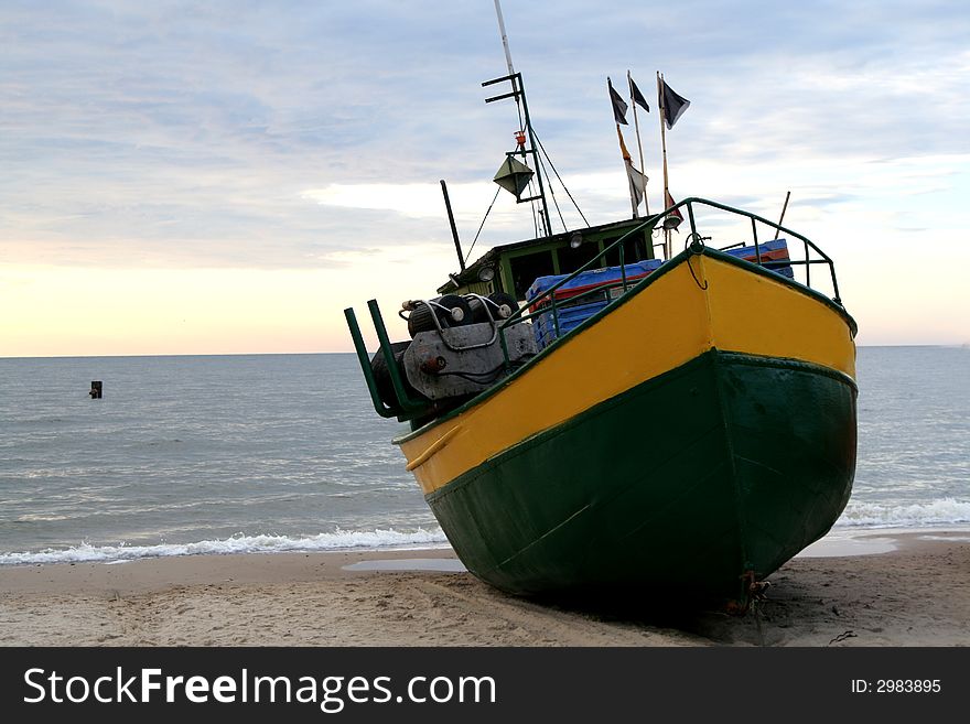
M884 552L796 558L743 617L675 597L664 613L517 598L450 549L8 566L0 645L970 645L968 532L849 542Z

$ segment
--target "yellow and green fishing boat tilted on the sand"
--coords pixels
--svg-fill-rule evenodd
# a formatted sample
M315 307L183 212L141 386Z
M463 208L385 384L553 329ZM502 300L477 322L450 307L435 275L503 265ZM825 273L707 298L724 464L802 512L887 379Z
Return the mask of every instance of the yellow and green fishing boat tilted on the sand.
M525 108L496 181L542 218L521 76L495 83ZM410 423L394 443L478 579L743 610L841 514L856 325L807 237L689 197L459 262L402 304L410 339L371 300L371 355L345 316L376 412Z

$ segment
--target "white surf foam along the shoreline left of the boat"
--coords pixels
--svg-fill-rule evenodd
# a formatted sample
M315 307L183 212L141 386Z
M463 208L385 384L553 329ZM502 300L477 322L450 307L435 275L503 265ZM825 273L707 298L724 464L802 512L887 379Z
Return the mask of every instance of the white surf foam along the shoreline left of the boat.
M284 553L334 550L409 550L439 548L448 543L440 528L402 532L397 530L337 530L305 538L287 536L233 536L224 540L158 545L90 545L80 543L66 549L37 552L0 553L0 565L37 563L119 563L144 558L170 555L224 555L228 553Z

